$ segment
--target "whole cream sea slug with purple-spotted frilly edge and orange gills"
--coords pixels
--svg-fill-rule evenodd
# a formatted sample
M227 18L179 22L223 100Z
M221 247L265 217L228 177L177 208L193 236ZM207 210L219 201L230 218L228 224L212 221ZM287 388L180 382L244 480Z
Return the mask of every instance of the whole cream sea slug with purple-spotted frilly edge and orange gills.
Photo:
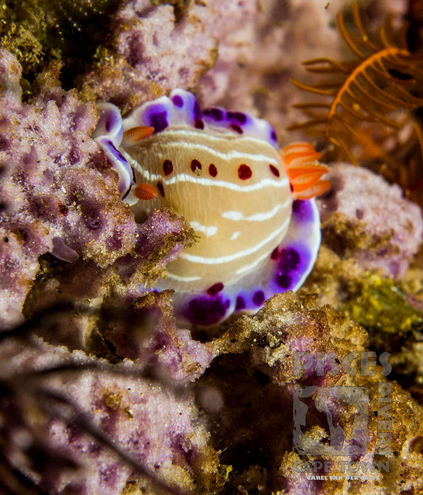
M156 286L175 290L180 322L210 326L301 286L320 244L314 197L329 187L312 145L279 150L268 122L220 107L201 111L180 89L123 120L116 106L99 106L94 138L135 218L167 206L199 237Z

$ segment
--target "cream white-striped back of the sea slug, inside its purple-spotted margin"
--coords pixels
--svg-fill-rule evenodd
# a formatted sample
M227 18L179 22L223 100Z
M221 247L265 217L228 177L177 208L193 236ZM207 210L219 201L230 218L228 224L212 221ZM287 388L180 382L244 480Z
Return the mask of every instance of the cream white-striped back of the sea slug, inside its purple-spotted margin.
M164 197L128 198L135 216L167 206L183 215L200 239L167 265L172 287L180 291L233 283L253 271L280 244L291 217L289 181L277 150L263 140L219 128L208 131L170 126L122 151L135 169L137 184L163 185ZM201 163L201 173L191 170L194 159ZM167 176L164 160L173 164ZM216 177L209 173L210 164ZM246 180L238 176L241 164L252 171Z

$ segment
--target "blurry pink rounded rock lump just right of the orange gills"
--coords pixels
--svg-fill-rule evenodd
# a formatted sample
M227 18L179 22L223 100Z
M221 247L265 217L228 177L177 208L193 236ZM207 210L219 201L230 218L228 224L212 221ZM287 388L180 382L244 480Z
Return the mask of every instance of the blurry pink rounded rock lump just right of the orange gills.
M332 188L317 199L323 243L362 269L401 278L422 245L421 208L362 167L338 163L326 177Z

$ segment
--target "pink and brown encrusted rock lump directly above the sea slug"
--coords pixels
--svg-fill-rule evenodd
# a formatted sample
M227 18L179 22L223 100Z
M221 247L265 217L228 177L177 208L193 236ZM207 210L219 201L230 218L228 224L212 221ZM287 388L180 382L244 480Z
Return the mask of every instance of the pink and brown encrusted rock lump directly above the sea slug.
M80 80L82 94L127 111L173 88L194 86L213 65L217 40L204 21L214 7L192 8L177 23L167 2L152 6L150 1L132 0L118 9L108 48Z

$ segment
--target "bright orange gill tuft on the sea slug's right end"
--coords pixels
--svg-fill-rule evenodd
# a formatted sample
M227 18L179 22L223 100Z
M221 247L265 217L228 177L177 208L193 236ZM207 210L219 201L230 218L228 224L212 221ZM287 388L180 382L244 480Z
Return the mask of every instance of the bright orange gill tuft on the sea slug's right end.
M279 150L295 199L310 199L330 188L320 177L329 169L317 160L320 153L310 143L294 143Z

